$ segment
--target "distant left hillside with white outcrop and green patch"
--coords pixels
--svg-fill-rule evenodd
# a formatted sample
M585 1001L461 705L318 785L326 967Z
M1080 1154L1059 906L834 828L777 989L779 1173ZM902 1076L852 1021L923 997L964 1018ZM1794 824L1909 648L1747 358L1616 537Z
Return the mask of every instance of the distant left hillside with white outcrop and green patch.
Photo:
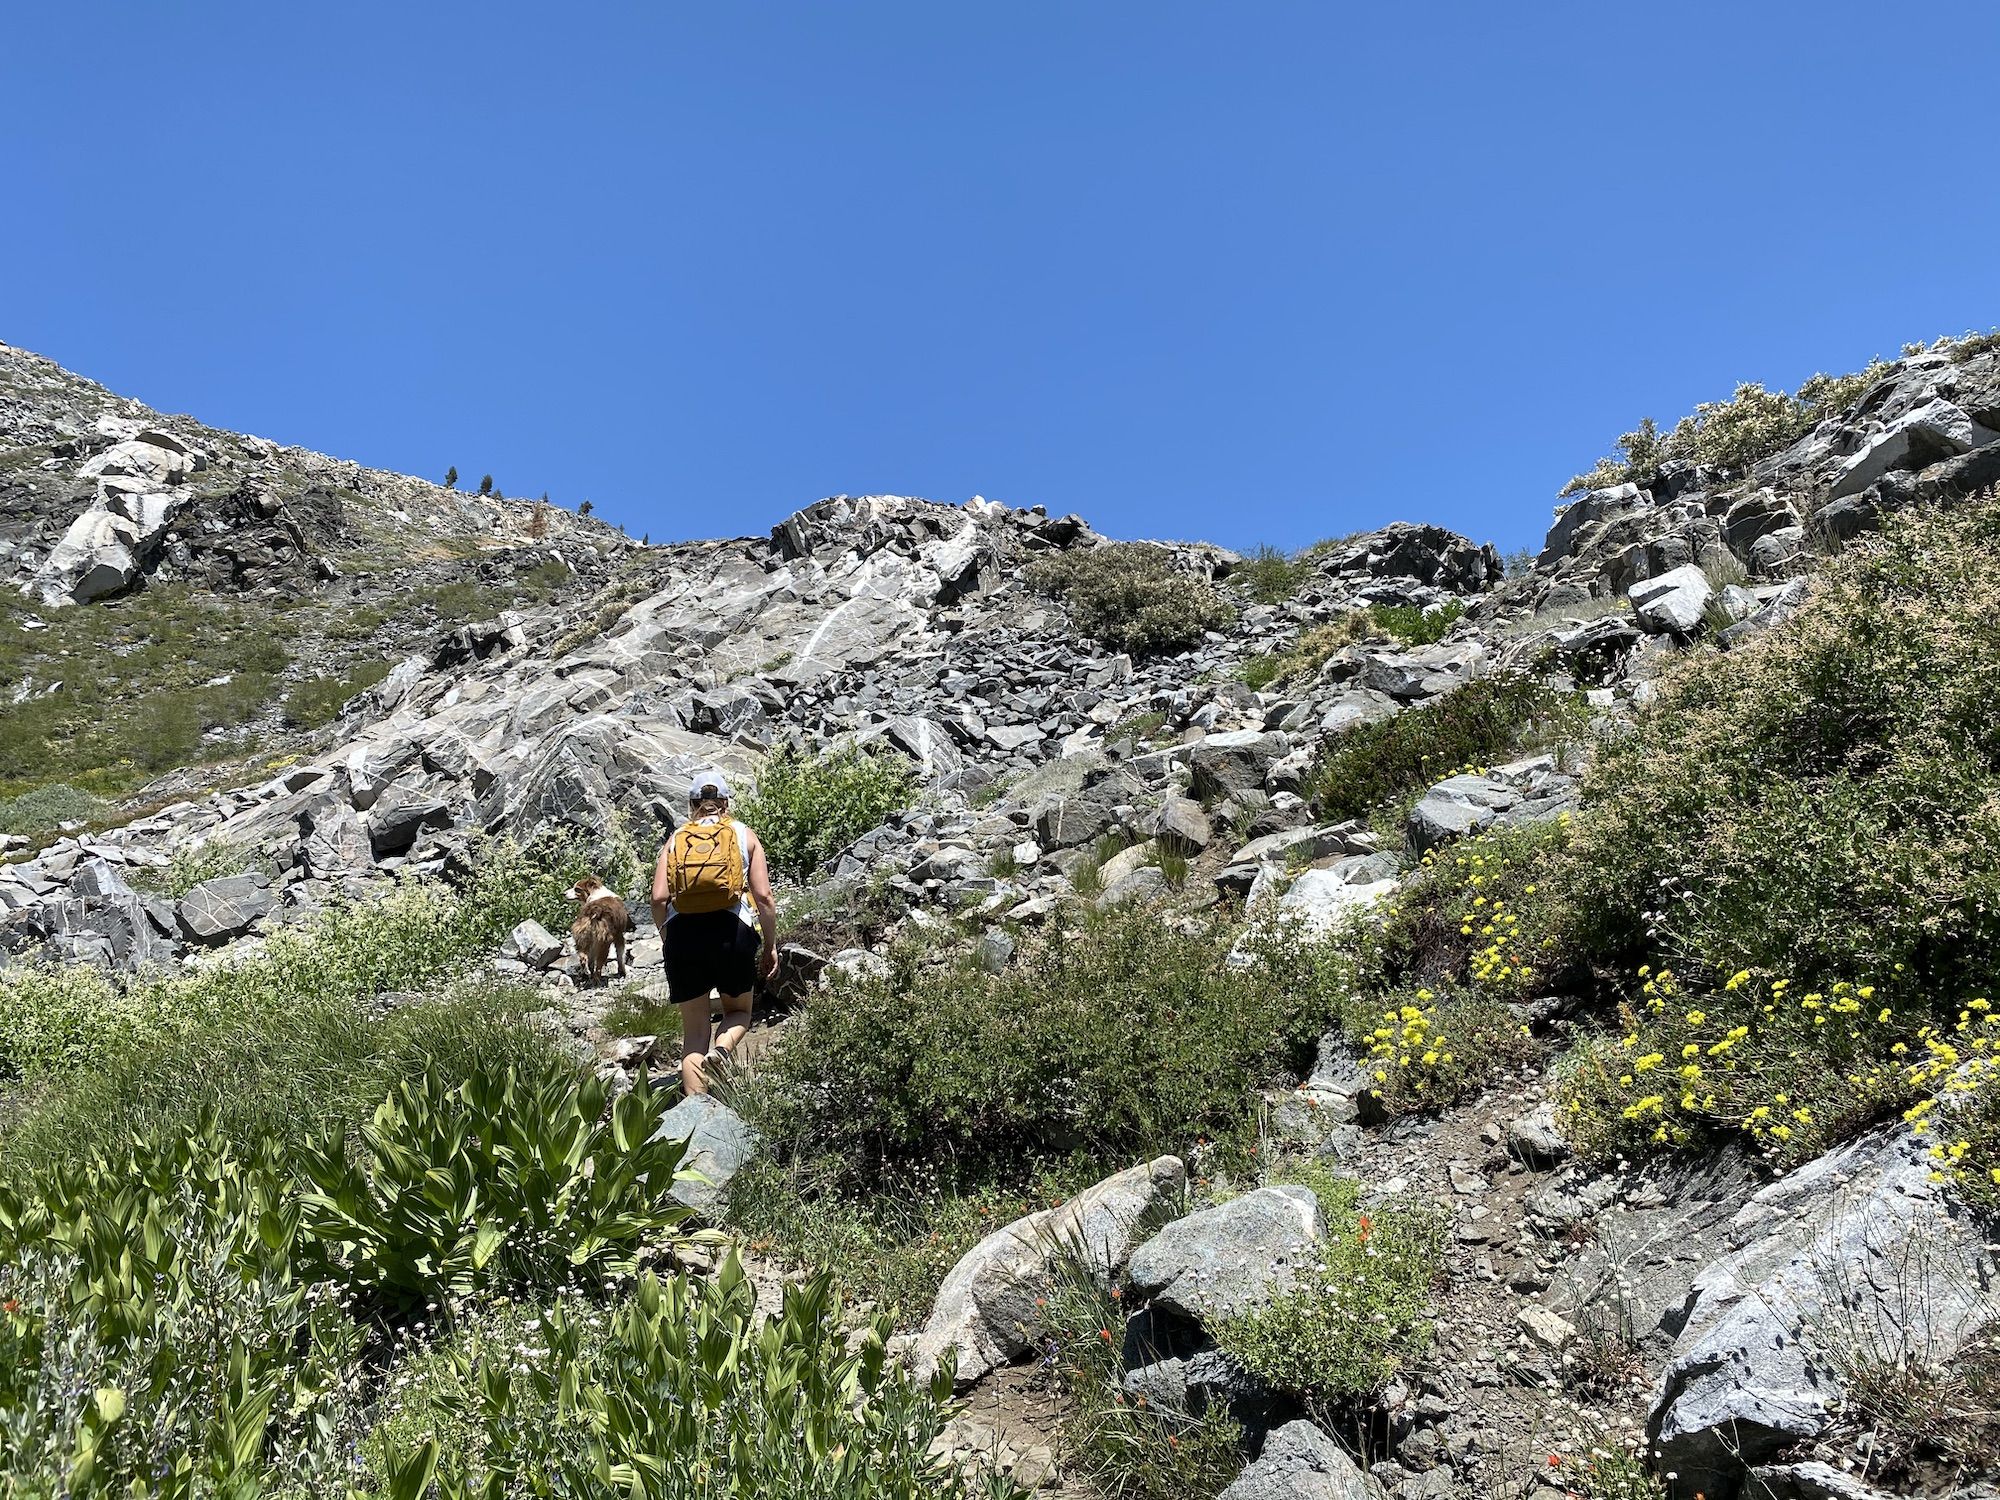
M0 346L0 796L280 754L386 656L588 596L630 552L560 506L164 416Z

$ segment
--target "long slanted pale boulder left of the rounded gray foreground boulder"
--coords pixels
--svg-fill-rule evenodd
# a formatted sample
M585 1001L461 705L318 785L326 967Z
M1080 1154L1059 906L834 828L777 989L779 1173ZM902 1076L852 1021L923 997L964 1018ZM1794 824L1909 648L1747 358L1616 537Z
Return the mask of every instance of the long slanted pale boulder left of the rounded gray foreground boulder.
M1074 1254L1092 1280L1110 1288L1126 1270L1134 1238L1186 1180L1178 1156L1160 1156L988 1234L938 1288L910 1354L918 1374L928 1378L952 1352L958 1384L968 1386L1028 1354L1038 1322L1034 1300L1050 1294L1058 1258Z

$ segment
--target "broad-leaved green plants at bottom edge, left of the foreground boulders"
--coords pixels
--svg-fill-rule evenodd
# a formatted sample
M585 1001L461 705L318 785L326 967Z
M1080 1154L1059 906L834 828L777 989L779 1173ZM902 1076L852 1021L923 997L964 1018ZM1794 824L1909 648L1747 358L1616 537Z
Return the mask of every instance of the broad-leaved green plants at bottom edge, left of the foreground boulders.
M542 1494L612 1482L646 1500L970 1500L970 1480L930 1450L950 1370L916 1384L888 1356L888 1318L850 1338L824 1276L788 1286L770 1318L754 1314L734 1258L700 1284L640 1278L602 1332L558 1306L530 1338L524 1376L460 1354L428 1384L432 1418L468 1434L462 1468L440 1464L436 1438L384 1442L380 1468L398 1494L434 1476L438 1500L504 1492L510 1478ZM996 1480L984 1494L1020 1490Z

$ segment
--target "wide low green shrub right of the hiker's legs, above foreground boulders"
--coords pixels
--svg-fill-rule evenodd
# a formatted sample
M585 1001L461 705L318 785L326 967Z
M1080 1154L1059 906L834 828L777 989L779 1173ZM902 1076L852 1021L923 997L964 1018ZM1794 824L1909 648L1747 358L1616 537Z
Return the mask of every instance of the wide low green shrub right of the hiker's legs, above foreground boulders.
M1164 926L1128 904L1066 916L986 974L914 946L794 1014L742 1108L780 1154L880 1190L916 1166L1018 1182L1074 1150L1180 1150L1252 1126L1260 1084L1296 1072L1346 994L1328 944L1212 918Z

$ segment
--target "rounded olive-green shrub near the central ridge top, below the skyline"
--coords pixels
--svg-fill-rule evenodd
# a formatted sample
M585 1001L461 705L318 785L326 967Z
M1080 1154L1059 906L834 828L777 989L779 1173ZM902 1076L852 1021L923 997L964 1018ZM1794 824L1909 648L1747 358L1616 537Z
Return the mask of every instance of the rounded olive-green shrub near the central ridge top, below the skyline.
M1028 566L1026 582L1068 604L1082 634L1134 654L1186 650L1236 618L1212 584L1178 572L1172 552L1150 542L1052 552Z

